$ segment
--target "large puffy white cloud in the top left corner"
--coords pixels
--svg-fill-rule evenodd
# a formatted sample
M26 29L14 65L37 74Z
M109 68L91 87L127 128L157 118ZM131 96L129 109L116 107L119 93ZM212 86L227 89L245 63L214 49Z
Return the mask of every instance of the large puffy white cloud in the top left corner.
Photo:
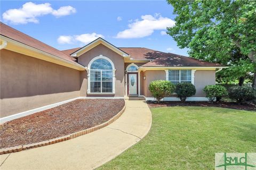
M13 24L26 24L28 22L38 23L38 16L52 14L56 17L75 13L76 9L72 6L61 6L58 10L54 10L50 3L34 4L27 2L22 7L10 9L3 13L3 19Z

